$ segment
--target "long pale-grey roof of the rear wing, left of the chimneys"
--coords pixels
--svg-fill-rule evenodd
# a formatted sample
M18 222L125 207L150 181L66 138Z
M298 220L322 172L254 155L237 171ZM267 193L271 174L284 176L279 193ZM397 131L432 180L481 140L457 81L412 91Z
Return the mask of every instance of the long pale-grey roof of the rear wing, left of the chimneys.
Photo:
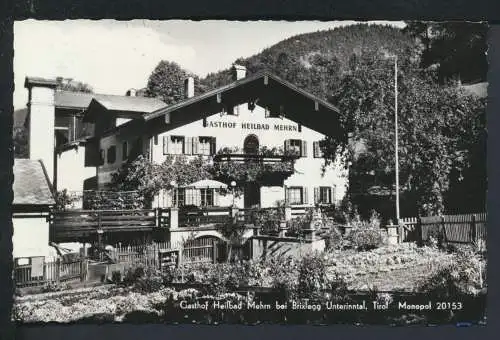
M150 113L165 106L165 103L157 98L117 96L71 91L56 91L55 105L58 108L84 110L89 106L92 99L95 99L110 111Z

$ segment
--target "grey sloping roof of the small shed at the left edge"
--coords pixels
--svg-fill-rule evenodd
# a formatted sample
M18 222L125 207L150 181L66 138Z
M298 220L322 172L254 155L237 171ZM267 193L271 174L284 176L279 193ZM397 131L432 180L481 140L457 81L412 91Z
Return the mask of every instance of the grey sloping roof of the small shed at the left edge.
M50 181L42 161L14 160L13 205L54 205Z

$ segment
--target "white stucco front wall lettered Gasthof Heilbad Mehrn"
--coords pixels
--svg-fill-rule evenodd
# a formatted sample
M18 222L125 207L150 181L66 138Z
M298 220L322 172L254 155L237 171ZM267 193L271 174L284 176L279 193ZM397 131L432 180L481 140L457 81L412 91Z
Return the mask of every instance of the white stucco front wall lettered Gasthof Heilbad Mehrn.
M299 129L299 125L289 119L279 117L265 117L265 109L257 106L253 112L248 110L246 104L242 104L235 109L236 115L215 114L207 118L207 124L203 126L200 119L190 124L166 131L157 137L157 145L152 139L143 140L143 147L146 151L149 148L151 159L161 163L166 155L163 153L164 136L184 136L184 137L215 137L216 151L223 147L239 147L243 149L244 140L248 135L254 134L259 140L259 146L268 148L283 148L287 139L300 139L307 142L307 157L299 158L295 163L296 173L287 178L284 185L287 187L298 186L308 187L308 203L314 203L314 187L326 186L332 188L332 200L341 200L346 191L347 171L340 165L330 166L326 172L322 173L323 158L314 158L313 142L320 141L324 135L313 131L305 126ZM286 116L286 112L285 112ZM300 131L299 131L300 130ZM99 167L99 185L109 182L111 173L121 166L121 136L107 136L101 140L101 148L107 149L110 145L117 146L117 161L110 165L104 164ZM187 156L197 157L197 156ZM274 206L276 201L284 199L282 187L262 187L261 206ZM161 205L162 199L155 201L156 205ZM230 203L228 203L230 202ZM232 197L222 197L220 205L230 205ZM237 200L239 206L243 206L243 199Z

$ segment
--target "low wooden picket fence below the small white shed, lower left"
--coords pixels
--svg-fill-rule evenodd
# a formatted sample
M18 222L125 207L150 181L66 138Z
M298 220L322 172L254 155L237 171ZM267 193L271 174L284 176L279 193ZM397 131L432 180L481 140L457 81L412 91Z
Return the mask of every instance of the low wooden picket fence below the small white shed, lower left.
M57 259L45 262L44 257L31 257L28 263L14 262L14 282L17 288L43 286L50 283L80 281L85 273L86 260L76 260L68 263Z

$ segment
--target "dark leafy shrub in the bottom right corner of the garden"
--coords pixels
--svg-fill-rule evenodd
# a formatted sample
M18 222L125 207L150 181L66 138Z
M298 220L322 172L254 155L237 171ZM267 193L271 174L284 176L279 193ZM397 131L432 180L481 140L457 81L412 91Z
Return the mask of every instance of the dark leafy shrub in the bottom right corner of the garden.
M418 290L439 298L477 295L486 280L486 263L471 250L455 254L453 262L423 282Z

